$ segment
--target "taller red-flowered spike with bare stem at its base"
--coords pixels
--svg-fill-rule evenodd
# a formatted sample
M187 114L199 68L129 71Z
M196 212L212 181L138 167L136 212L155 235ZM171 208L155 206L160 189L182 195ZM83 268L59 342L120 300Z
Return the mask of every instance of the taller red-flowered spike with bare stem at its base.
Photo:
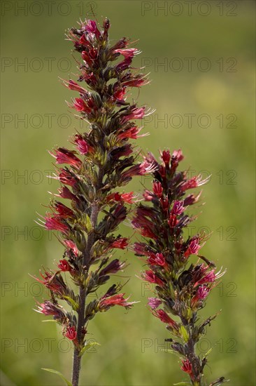
M73 386L78 385L82 355L95 344L87 342L88 322L98 312L115 305L129 309L134 303L120 293L120 282L101 295L99 287L125 268L125 262L113 259L111 252L127 248L129 239L113 232L127 217L127 204L135 197L117 188L134 175L152 171L151 161L138 163L130 142L141 130L134 121L147 114L145 106L127 102L132 87L147 83L145 75L131 69L139 51L129 48L126 38L111 46L109 27L107 19L102 28L85 20L67 34L80 60L78 80L64 81L64 85L78 93L69 107L80 113L78 118L87 122L88 129L73 136L75 149L58 147L50 152L61 187L41 220L46 229L59 231L64 255L57 269L47 269L37 279L50 291L50 300L39 304L38 311L52 316L73 342ZM67 204L59 199L66 199Z

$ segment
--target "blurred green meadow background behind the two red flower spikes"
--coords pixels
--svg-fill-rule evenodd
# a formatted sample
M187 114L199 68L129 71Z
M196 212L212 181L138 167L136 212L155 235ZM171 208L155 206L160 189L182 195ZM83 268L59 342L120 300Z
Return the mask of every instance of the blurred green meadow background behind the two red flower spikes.
M53 170L46 149L68 146L69 135L80 130L64 102L75 93L58 76L76 73L64 32L79 18L92 18L90 7L100 22L111 19L113 41L139 39L142 54L135 64L145 66L152 81L131 96L156 111L144 122L150 136L138 145L156 155L164 147L181 147L183 168L212 175L193 232L201 227L212 232L204 255L227 267L227 274L201 312L208 317L222 310L199 349L213 348L208 382L225 375L230 386L255 385L255 2L2 1L1 6L1 385L64 384L41 368L70 378L71 346L59 327L43 323L32 310L34 300L47 294L28 273L38 274L41 265L54 269L62 257L57 239L34 219L36 211L45 212L47 192L57 190L46 177ZM150 184L137 179L127 189L141 192L141 182ZM129 227L121 230L132 233ZM125 292L141 303L129 312L115 307L90 323L90 338L101 346L85 355L81 385L185 380L178 357L162 350L167 331L145 307L151 293L135 277L141 261L131 252L115 256L130 262Z

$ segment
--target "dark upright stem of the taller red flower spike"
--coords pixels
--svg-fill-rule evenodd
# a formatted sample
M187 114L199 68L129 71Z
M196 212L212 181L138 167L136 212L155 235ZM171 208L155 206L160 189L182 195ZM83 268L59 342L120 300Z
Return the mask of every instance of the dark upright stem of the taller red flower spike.
M97 191L101 188L102 179L104 176L103 168L99 169L98 181L97 181ZM92 212L90 215L90 220L92 223L92 227L94 228L97 223L97 218L99 214L99 206L97 205L97 199L95 199L92 204ZM91 249L94 244L94 230L87 238L87 246L85 248L85 253L83 255L83 265L85 269L88 271L90 265L90 255ZM83 343L83 328L85 323L85 301L86 301L86 291L83 284L80 285L79 292L79 309L78 309L78 326L77 326L77 339L78 339L78 347L74 348L73 352L73 375L72 375L72 385L78 386L79 383L79 375L80 375L80 366L81 366L81 357L80 357L80 347Z

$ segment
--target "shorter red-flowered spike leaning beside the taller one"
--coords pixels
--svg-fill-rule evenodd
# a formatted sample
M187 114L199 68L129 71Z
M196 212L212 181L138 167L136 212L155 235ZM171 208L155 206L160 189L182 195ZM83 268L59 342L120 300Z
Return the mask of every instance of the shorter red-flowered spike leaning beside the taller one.
M164 150L160 163L152 154L145 157L155 171L152 191L145 189L143 194L148 203L138 204L132 221L145 238L144 242L134 244L134 251L148 265L142 279L153 284L154 296L148 302L150 310L174 336L166 340L171 342L171 351L182 359L181 369L190 376L190 383L178 385L201 386L209 385L204 379L207 359L206 355L197 354L197 343L216 314L202 321L198 313L225 272L216 272L215 264L201 255L204 234L185 237L185 227L196 218L186 213L201 194L187 194L187 190L208 180L202 180L201 175L188 178L186 171L177 171L182 159L180 150L172 155ZM197 256L194 258L198 258L197 262L192 262L192 255ZM210 386L224 381L221 377Z

